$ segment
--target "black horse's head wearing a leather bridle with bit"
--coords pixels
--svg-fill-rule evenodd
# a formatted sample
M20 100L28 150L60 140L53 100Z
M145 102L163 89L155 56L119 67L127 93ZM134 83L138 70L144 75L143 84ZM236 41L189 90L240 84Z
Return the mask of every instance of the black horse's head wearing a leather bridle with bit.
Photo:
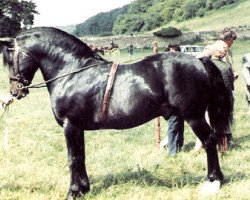
M16 39L0 39L3 46L3 62L9 66L10 92L17 99L25 97L35 74L35 60L18 46Z

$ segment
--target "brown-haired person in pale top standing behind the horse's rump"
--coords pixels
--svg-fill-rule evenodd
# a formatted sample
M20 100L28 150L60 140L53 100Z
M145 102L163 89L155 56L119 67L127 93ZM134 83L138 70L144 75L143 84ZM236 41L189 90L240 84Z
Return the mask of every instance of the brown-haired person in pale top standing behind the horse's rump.
M205 47L204 51L198 57L209 57L214 64L219 68L222 73L224 83L232 93L233 102L233 91L234 91L234 80L238 77L238 74L233 72L233 59L230 47L232 46L237 35L234 31L229 28L225 28L219 34L220 39L214 44ZM233 105L233 104L232 104ZM233 144L232 133L228 130L226 135L227 145ZM202 147L201 141L197 138L195 144L195 151L199 151Z

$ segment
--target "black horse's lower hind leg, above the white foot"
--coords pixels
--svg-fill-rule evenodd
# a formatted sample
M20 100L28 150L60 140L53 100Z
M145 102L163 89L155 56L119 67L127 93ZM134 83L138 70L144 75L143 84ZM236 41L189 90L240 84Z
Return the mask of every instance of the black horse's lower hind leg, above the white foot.
M205 118L199 120L187 120L187 122L205 147L207 153L208 181L222 182L223 174L219 165L216 135L214 135Z

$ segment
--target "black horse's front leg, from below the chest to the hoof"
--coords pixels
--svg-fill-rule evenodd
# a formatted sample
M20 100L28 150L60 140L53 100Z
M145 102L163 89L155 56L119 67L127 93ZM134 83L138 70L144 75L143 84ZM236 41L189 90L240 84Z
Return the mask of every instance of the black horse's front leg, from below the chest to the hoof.
M68 148L71 175L67 199L75 199L90 190L85 166L84 131L68 121L64 126L64 134Z

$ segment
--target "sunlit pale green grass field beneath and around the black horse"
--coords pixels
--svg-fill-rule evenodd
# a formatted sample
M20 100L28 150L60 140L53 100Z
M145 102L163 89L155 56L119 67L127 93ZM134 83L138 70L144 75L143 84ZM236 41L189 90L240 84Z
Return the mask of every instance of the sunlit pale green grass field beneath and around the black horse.
M195 135L185 124L185 146L176 157L168 157L155 146L153 121L137 128L86 132L86 165L91 191L86 200L196 200L250 199L250 116L246 115L245 85L241 57L250 52L250 41L233 47L235 69L235 146L223 158L225 184L212 197L199 195L205 181L206 155L193 151ZM151 52L135 51L132 59ZM0 56L1 59L1 56ZM125 62L126 52L108 57ZM0 61L0 88L8 92L7 69ZM35 77L40 82L41 76ZM3 110L1 110L3 113ZM33 89L15 101L0 123L0 199L63 199L69 186L69 169L62 129L56 124L46 89ZM167 123L161 119L162 138ZM4 150L4 133L9 134Z

